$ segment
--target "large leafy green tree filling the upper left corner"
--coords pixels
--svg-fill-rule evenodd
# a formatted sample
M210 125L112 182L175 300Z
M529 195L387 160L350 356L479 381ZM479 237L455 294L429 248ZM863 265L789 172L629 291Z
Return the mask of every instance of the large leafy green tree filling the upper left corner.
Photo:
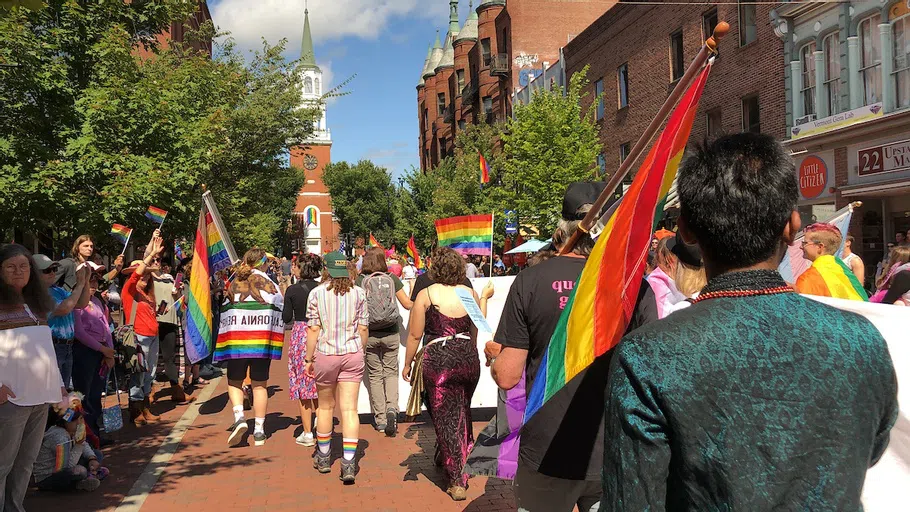
M0 11L0 63L16 64L0 69L0 231L89 233L104 245L118 222L141 240L151 204L169 211L166 234L191 235L205 184L238 250L275 246L303 183L288 143L312 134L318 105L300 108L283 41L263 42L249 63L230 39L214 58L158 48L152 35L195 7L58 0ZM195 37L214 35L208 25Z

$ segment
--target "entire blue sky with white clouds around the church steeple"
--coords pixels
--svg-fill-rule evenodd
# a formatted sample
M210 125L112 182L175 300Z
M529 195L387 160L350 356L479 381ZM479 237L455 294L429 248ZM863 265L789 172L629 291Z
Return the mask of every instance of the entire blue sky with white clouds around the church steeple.
M288 39L300 56L305 0L209 0L212 18L241 48ZM397 178L419 163L416 89L427 45L444 37L448 0L309 0L316 61L327 83L357 75L328 105L332 160L370 159ZM460 24L468 1L460 0ZM476 5L476 3L475 3Z

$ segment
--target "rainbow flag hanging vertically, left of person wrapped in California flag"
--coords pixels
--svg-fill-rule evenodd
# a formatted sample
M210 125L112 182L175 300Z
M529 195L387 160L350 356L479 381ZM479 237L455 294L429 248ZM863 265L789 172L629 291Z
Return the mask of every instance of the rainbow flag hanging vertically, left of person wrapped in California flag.
M209 282L212 266L209 254L211 215L205 207L199 212L196 225L196 243L193 246L193 268L186 295L186 355L196 363L212 353L212 294ZM222 244L222 250L224 244Z

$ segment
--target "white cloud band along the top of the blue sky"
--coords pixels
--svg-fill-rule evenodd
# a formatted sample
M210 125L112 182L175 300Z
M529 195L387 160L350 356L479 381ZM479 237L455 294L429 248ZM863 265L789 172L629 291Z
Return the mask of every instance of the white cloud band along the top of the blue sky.
M304 0L220 0L211 3L215 25L231 32L240 48L258 48L263 37L274 44L287 38L296 55L303 35ZM461 0L461 18L467 2ZM318 45L346 36L375 39L395 17L433 20L445 29L446 0L310 0L310 28ZM429 26L428 29L432 28ZM318 57L318 54L317 54Z

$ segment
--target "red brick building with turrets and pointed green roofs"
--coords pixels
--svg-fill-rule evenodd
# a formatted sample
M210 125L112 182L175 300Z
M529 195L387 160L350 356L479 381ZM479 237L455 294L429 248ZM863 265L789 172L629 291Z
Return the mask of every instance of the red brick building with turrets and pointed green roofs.
M439 0L436 0L439 1ZM616 0L484 0L459 26L449 2L449 28L436 38L417 84L420 168L454 150L468 124L512 115L511 95L555 62L559 49Z

